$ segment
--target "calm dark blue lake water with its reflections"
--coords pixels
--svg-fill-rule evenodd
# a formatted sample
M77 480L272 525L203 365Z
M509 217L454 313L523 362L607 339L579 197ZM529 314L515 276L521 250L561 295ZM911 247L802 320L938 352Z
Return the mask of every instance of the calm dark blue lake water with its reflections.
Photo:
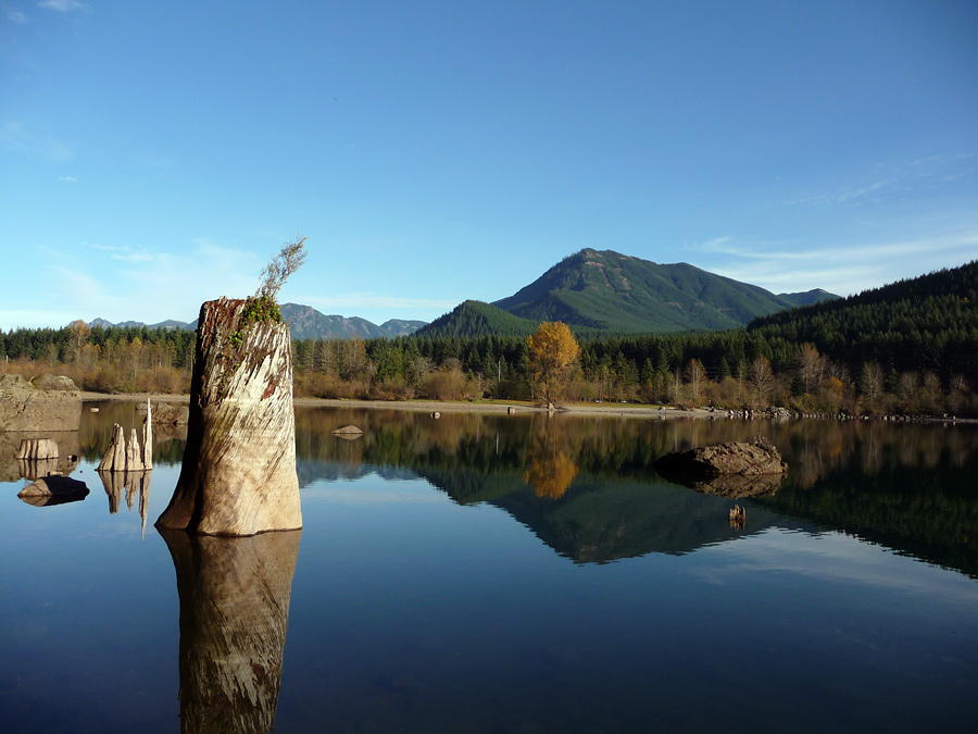
M100 407L83 501L0 434L5 732L978 731L978 426L299 409L304 527L236 540L153 528L179 433L105 488ZM652 468L757 434L752 498Z

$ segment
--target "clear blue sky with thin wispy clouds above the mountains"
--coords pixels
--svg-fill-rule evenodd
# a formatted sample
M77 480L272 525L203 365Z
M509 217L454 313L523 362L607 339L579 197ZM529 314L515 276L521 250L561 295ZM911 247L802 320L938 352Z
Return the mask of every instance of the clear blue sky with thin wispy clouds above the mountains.
M0 328L429 321L585 247L848 295L978 258L978 2L0 0Z

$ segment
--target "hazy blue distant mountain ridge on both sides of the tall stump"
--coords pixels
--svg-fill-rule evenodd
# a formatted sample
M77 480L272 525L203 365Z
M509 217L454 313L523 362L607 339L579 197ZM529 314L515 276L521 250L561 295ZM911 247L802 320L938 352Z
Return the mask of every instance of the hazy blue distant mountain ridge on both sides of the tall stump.
M378 326L366 319L359 316L347 318L338 314L326 315L311 306L301 306L299 303L284 303L281 306L281 316L289 322L289 331L293 339L396 338L410 336L426 323L408 319L390 319ZM141 321L112 323L105 319L93 319L88 326L101 326L102 328L109 328L110 326L141 328L146 326L147 328L196 331L197 319L193 321L175 321L170 319L156 324L146 324Z

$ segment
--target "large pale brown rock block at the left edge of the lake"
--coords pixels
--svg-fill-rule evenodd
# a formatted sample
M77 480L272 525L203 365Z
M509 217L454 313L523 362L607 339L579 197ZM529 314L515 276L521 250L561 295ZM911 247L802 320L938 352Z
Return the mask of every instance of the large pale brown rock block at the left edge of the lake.
M0 375L0 431L77 431L82 397L67 377Z

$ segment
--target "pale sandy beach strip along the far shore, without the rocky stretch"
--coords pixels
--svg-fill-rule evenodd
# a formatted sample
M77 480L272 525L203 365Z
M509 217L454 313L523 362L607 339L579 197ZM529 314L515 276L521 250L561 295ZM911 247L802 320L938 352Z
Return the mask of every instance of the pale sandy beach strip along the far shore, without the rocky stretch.
M188 395L163 395L147 393L127 393L106 395L102 393L82 393L83 400L121 400L130 402L142 402L150 398L153 402L176 402L187 403L190 401ZM516 412L547 412L544 408L540 408L529 402L522 401L490 401L481 400L478 402L469 402L467 400L447 401L439 400L335 400L329 398L296 398L294 403L302 407L328 407L328 408L358 408L367 410L411 410L424 413L505 413L510 408L514 408ZM659 406L636 406L631 403L572 403L561 406L559 412L591 415L616 415L624 418L710 418L717 415L709 410L677 410L675 408L665 408L660 410Z

